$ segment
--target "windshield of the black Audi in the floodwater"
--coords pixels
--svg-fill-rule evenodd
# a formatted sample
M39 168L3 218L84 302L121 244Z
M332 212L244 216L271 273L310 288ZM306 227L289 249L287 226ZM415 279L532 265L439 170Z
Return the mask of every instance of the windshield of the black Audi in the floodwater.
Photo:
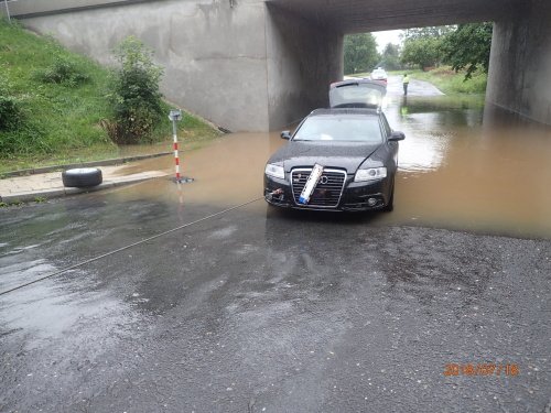
M307 118L295 132L293 141L382 142L377 117L314 116Z

